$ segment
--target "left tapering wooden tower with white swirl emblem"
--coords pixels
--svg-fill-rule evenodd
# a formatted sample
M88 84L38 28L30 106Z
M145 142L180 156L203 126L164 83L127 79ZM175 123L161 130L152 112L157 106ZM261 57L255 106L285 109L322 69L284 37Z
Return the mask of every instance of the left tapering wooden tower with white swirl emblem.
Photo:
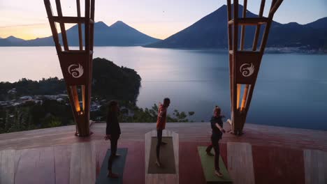
M76 123L76 134L84 137L89 135L94 40L94 0L85 0L84 17L81 17L80 13L80 0L76 0L76 17L64 16L61 10L60 0L55 0L55 2L57 16L54 16L52 13L50 0L44 0L45 9L48 14L52 38L57 49L61 71L71 102L71 109ZM69 48L65 24L78 24L79 49L74 50ZM58 33L58 25L61 33ZM84 29L84 32L82 29ZM63 48L61 47L61 43L64 45Z

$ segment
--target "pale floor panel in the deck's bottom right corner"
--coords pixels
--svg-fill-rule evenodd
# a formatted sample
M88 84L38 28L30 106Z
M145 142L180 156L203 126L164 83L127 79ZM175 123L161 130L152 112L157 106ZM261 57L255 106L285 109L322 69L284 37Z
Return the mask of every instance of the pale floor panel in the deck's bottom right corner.
M304 150L305 183L327 183L327 153L319 150Z

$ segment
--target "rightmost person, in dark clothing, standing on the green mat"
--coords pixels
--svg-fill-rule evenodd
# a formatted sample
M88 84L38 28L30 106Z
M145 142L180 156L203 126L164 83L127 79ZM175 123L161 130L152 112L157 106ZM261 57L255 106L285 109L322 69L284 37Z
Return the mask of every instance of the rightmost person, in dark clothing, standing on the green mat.
M223 121L221 120L222 117L220 107L216 106L214 109L214 115L210 120L212 128L211 144L207 148L207 153L208 150L210 150L210 147L213 147L215 150L215 174L219 177L223 176L219 168L219 140L221 139L222 134L226 132L223 129Z

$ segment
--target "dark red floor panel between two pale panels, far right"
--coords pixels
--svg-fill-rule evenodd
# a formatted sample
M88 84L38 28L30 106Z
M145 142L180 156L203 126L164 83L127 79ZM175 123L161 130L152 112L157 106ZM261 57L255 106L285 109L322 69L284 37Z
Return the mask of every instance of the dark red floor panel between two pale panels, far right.
M256 183L305 184L302 150L252 145L252 158Z

